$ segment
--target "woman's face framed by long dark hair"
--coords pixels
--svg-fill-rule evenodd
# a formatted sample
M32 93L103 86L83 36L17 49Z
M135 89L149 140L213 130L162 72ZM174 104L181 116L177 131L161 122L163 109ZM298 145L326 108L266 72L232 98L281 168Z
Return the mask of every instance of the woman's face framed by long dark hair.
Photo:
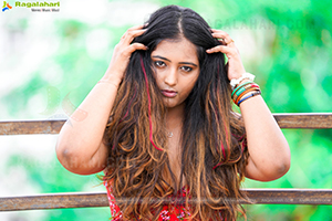
M165 106L183 107L199 75L195 44L185 38L163 40L151 57Z

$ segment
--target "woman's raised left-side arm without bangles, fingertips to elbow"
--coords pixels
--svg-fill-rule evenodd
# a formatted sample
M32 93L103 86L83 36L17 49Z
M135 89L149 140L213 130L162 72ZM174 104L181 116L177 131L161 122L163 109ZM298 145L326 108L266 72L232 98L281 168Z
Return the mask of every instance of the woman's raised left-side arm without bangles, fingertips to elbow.
M91 175L106 167L104 130L131 54L136 50L146 50L141 43L131 44L134 38L144 32L143 25L125 32L114 49L104 76L61 128L55 150L59 161L68 170Z

